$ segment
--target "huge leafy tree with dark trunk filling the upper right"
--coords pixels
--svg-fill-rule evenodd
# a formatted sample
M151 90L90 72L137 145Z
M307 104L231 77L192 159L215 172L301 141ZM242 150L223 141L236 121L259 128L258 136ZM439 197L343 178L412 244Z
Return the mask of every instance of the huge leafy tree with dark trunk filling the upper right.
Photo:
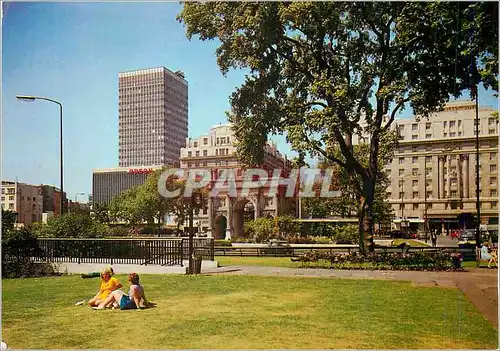
M416 116L483 83L498 89L498 4L185 3L187 36L218 39L223 74L246 68L231 96L240 159L260 164L269 134L352 174L359 245L372 228L380 142L408 104ZM489 35L491 34L491 35ZM355 135L369 135L368 162ZM338 148L342 158L336 156Z

